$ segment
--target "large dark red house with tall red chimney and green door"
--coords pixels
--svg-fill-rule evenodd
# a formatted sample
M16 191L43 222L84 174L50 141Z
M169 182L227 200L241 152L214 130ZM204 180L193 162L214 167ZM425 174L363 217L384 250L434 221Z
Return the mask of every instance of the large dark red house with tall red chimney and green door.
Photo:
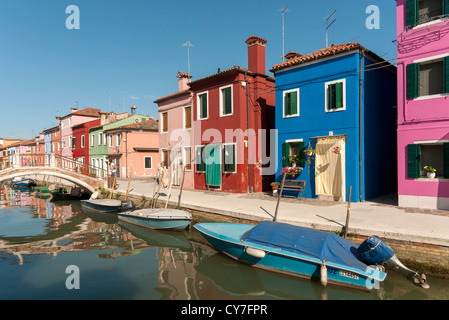
M189 83L193 93L195 189L233 193L270 188L263 172L274 129L275 80L265 74L267 41L250 36L248 69L234 66ZM274 173L274 172L273 172Z

